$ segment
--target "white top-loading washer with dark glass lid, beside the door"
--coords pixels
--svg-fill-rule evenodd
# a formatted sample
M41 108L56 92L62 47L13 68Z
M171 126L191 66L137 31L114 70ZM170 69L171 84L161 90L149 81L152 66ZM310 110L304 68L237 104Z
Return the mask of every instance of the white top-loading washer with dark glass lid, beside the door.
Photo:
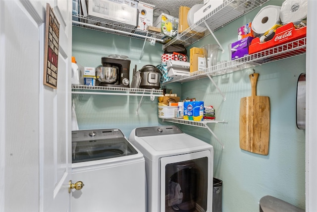
M119 129L72 131L72 212L145 212L145 160Z

